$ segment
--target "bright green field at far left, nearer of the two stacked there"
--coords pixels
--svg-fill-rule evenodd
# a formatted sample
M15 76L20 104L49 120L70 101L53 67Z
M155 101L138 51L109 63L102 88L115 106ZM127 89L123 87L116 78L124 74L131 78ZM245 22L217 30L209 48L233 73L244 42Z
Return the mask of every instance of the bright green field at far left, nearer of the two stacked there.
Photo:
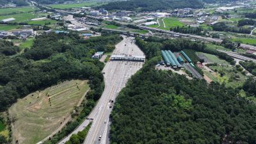
M0 20L8 19L8 18L14 18L15 20L12 20L10 22L24 22L26 20L31 20L36 17L36 14L33 12L29 13L18 13L14 15L1 15Z

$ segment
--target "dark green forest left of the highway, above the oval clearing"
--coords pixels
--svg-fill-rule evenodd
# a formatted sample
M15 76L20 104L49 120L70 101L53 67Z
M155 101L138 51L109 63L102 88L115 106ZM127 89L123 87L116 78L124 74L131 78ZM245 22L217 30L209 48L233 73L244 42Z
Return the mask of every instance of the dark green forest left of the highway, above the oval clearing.
M95 88L92 97L99 99L104 64L91 56L96 51L113 51L122 39L107 35L88 40L72 33L40 35L23 53L17 53L19 47L11 42L0 41L0 110L31 92L67 79L90 79L90 87Z

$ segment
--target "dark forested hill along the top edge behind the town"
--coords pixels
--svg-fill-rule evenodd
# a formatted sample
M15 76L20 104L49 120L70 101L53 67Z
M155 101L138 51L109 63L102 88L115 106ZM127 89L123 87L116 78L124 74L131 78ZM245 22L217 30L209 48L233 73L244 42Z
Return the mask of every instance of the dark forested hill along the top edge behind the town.
M106 10L155 11L173 8L202 8L201 0L130 0L116 1L100 6Z

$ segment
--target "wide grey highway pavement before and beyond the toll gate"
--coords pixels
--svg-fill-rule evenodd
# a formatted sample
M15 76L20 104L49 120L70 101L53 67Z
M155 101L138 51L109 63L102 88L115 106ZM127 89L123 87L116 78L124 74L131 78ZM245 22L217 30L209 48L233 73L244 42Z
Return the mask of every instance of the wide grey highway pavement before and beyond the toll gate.
M116 49L113 54L127 54L144 56L143 52L134 44L132 38L124 38L122 42L116 45ZM136 61L109 61L105 66L103 72L105 72L106 88L102 93L100 99L104 99L97 104L101 106L99 115L96 115L93 119L93 124L86 136L84 143L106 143L108 134L108 120L111 114L113 105L109 100L116 99L116 96L124 88L128 79L135 74L143 65L143 62ZM100 140L99 137L101 136Z

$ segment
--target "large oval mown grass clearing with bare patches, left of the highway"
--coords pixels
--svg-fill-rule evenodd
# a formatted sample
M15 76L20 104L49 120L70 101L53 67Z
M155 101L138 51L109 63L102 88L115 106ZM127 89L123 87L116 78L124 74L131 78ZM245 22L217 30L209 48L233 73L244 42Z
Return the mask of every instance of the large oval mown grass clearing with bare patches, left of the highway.
M35 144L56 131L83 100L87 81L72 80L30 93L9 109L14 141Z

